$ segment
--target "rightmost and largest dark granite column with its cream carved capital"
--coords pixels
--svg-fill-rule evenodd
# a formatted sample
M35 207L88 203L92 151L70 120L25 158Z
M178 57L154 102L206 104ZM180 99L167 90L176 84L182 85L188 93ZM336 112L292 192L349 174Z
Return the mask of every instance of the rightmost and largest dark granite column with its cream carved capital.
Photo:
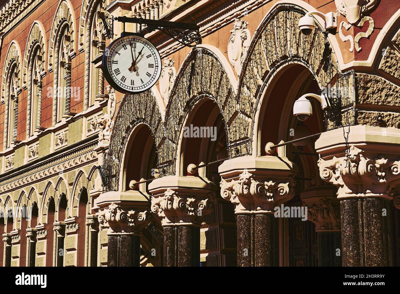
M400 183L400 131L352 126L325 132L316 141L320 176L338 188L343 266L392 265L392 189ZM346 127L347 132L347 127Z

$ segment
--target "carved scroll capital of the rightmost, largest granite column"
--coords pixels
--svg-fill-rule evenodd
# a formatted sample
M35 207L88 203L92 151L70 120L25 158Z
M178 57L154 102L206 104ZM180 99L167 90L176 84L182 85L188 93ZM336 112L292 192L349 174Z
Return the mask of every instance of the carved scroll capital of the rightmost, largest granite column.
M318 160L322 180L338 187L338 198L379 197L392 199L392 188L400 183L400 161L384 155L369 159L356 146L348 156Z

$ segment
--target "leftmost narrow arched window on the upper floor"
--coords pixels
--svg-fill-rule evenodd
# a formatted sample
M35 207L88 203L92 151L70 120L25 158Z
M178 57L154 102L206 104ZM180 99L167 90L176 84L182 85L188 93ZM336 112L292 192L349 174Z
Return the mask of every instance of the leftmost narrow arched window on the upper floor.
M6 84L6 123L5 123L5 147L17 143L17 117L18 117L18 76L17 65L10 66Z

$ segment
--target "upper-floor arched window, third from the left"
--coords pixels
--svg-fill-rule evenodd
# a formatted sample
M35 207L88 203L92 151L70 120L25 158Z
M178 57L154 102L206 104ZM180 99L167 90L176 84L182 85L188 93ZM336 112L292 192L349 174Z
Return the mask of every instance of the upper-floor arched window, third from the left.
M56 122L60 122L62 118L68 118L71 103L71 60L70 60L70 30L68 24L64 23L58 36L57 52L57 72L54 73L56 82Z

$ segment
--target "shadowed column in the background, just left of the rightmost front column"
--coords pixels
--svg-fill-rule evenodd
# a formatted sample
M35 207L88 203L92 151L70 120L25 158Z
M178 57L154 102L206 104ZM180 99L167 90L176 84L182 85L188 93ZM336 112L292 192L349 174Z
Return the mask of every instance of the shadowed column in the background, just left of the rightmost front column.
M318 266L342 266L340 201L329 186L320 188L300 194L307 220L315 224Z

